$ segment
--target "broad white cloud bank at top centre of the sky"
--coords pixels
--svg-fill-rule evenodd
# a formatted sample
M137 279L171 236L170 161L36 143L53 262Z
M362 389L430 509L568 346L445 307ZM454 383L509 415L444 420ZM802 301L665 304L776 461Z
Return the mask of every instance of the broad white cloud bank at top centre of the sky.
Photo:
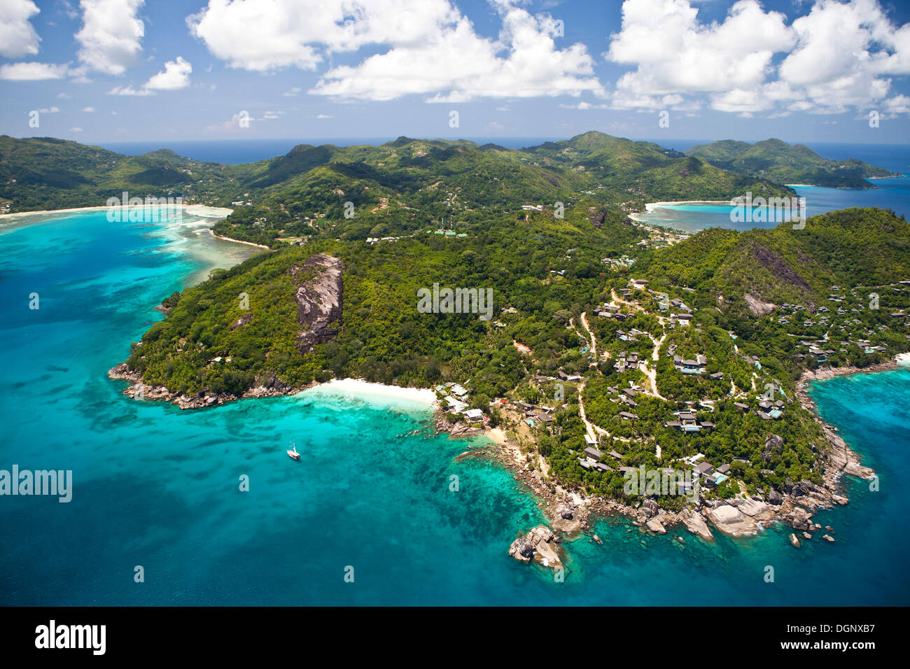
M258 72L314 70L335 53L387 47L357 66L329 69L309 91L317 95L455 102L602 90L585 46L556 47L549 15L490 2L502 23L497 40L478 35L450 0L209 0L187 25L229 66Z

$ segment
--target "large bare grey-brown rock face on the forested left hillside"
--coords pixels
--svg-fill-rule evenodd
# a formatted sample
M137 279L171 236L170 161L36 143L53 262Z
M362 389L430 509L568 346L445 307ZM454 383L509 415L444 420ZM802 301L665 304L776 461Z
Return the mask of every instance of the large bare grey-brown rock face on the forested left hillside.
M310 277L313 270L316 275ZM338 334L342 323L341 272L339 258L319 253L288 269L297 286L297 322L302 326L298 335L301 352L312 350Z

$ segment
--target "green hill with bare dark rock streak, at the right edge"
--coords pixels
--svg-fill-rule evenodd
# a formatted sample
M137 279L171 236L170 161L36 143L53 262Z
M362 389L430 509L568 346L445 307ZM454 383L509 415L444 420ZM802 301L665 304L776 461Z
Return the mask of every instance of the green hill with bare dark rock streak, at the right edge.
M703 304L754 315L745 296L814 310L831 286L881 286L910 278L910 224L893 211L847 208L773 229L703 230L642 260L657 286L696 289Z

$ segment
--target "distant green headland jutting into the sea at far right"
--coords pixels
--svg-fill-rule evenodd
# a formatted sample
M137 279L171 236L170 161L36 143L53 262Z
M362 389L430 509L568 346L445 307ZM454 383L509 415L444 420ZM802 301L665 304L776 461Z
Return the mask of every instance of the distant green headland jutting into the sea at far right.
M875 188L869 177L891 177L891 172L862 160L828 160L803 144L789 145L780 139L749 144L723 139L701 144L685 152L712 165L780 184L809 184L828 188Z

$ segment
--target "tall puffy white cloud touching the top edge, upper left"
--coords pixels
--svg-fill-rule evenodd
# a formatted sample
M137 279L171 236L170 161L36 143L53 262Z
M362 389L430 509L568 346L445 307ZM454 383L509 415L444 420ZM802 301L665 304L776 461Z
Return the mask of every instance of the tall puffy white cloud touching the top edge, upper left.
M145 0L81 0L81 48L76 55L88 68L121 75L142 51L145 25L137 17Z

